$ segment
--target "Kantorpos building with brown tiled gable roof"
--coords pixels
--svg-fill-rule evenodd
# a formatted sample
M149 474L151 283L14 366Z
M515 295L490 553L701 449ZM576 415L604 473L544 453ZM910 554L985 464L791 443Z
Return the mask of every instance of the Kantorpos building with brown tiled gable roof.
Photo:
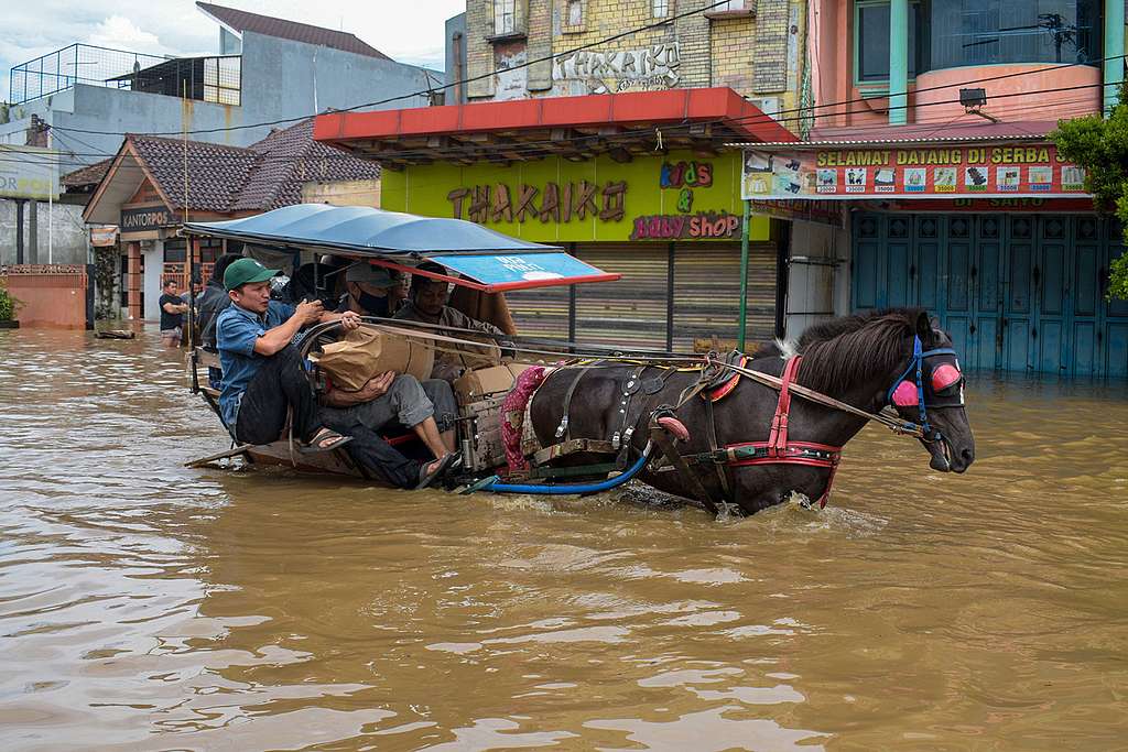
M248 148L130 135L83 212L91 225L117 225L120 289L126 318L156 319L161 284L187 289L187 259L206 280L224 241L177 236L184 221L235 219L291 204L376 206L380 170L312 140L312 120L276 130Z

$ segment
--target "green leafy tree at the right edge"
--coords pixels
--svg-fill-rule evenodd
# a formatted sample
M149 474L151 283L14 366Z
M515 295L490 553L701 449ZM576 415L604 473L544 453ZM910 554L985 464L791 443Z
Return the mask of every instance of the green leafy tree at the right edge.
M1113 214L1128 245L1128 81L1108 118L1100 115L1058 123L1050 139L1067 161L1085 168L1085 191L1101 214ZM1128 299L1128 254L1109 264L1109 299Z

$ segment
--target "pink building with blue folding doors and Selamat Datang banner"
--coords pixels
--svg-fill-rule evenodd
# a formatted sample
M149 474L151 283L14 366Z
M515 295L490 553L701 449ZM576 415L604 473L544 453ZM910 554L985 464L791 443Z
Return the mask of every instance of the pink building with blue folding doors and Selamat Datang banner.
M972 368L1128 375L1121 229L1049 138L1116 103L1123 1L810 6L814 127L754 148L746 195L840 205L849 308L926 307Z

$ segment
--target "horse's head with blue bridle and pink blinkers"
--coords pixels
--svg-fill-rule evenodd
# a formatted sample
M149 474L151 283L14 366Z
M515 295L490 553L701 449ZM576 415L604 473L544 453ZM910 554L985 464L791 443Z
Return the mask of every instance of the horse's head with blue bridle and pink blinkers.
M976 440L963 407L963 373L952 338L933 327L922 311L906 344L905 359L885 392L885 404L924 428L920 443L932 455L932 469L963 472L975 461Z

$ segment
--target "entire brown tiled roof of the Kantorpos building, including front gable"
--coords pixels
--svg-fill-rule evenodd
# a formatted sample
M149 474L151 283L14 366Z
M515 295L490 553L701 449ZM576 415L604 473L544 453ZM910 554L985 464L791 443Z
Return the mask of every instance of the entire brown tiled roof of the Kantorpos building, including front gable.
M130 135L127 140L168 197L169 207L183 209L185 142L149 135ZM312 118L274 131L246 148L203 141L186 145L190 211L268 211L301 203L302 183L380 177L376 162L314 141Z

